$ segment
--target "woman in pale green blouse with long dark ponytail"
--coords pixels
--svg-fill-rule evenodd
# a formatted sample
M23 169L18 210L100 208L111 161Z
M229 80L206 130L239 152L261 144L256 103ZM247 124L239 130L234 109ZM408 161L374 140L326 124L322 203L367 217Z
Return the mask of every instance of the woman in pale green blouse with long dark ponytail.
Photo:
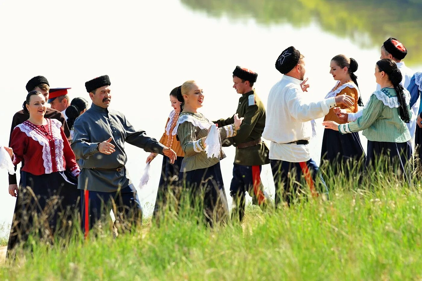
M391 59L380 59L375 65L376 82L381 90L373 92L368 104L363 107L362 116L347 124L325 121L322 124L347 134L362 131L368 138L365 166L372 168L380 156L387 157L388 167L396 174L404 173L411 157L411 135L406 123L410 121L410 94L400 85L402 75ZM338 110L338 109L337 109ZM341 115L347 118L348 113Z

